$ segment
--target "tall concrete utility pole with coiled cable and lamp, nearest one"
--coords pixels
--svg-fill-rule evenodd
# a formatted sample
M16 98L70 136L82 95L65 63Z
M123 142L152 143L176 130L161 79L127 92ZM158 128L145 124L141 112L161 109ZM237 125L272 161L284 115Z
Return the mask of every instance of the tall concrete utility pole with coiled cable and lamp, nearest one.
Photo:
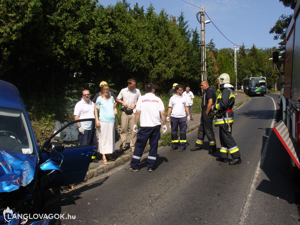
M205 46L205 24L210 23L210 20L204 20L205 12L204 7L201 7L201 11L197 13L198 22L201 24L201 63L202 74L201 81L206 80L206 46Z

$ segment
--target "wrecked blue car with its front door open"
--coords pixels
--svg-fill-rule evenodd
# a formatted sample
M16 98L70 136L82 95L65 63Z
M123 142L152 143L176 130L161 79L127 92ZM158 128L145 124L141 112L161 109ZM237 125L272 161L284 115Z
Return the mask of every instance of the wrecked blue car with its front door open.
M68 123L39 149L17 88L0 80L0 224L53 224L13 215L39 211L42 190L84 181L91 161L90 142L78 145L76 122ZM28 220L28 221L26 221Z

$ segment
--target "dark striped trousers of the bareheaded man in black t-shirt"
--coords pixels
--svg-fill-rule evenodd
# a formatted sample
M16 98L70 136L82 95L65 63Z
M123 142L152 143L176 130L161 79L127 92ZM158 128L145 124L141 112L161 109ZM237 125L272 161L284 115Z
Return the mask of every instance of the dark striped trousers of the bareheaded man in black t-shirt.
M212 128L213 119L214 117L211 115L211 111L207 116L206 109L202 109L200 126L198 128L198 137L195 144L196 147L202 148L204 137L206 135L209 141L210 149L216 149L216 139L214 137L214 130Z

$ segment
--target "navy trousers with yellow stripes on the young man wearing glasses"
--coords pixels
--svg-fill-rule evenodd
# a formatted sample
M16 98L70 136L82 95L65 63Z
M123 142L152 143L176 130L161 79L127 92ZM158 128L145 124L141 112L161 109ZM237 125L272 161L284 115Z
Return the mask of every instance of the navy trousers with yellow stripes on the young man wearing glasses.
M179 148L186 149L187 143L187 122L185 117L176 118L171 116L171 137L172 137L172 147L177 148L179 143ZM178 139L178 126L180 130L180 141Z

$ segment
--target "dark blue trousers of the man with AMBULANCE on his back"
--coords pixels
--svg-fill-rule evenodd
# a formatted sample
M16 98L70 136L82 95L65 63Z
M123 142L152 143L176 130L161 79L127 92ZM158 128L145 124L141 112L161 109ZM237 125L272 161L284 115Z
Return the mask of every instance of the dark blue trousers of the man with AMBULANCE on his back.
M137 141L135 143L134 153L130 162L132 169L139 167L141 157L149 139L150 151L147 159L147 167L153 168L157 156L158 140L161 138L161 125L155 127L141 127L137 132Z

